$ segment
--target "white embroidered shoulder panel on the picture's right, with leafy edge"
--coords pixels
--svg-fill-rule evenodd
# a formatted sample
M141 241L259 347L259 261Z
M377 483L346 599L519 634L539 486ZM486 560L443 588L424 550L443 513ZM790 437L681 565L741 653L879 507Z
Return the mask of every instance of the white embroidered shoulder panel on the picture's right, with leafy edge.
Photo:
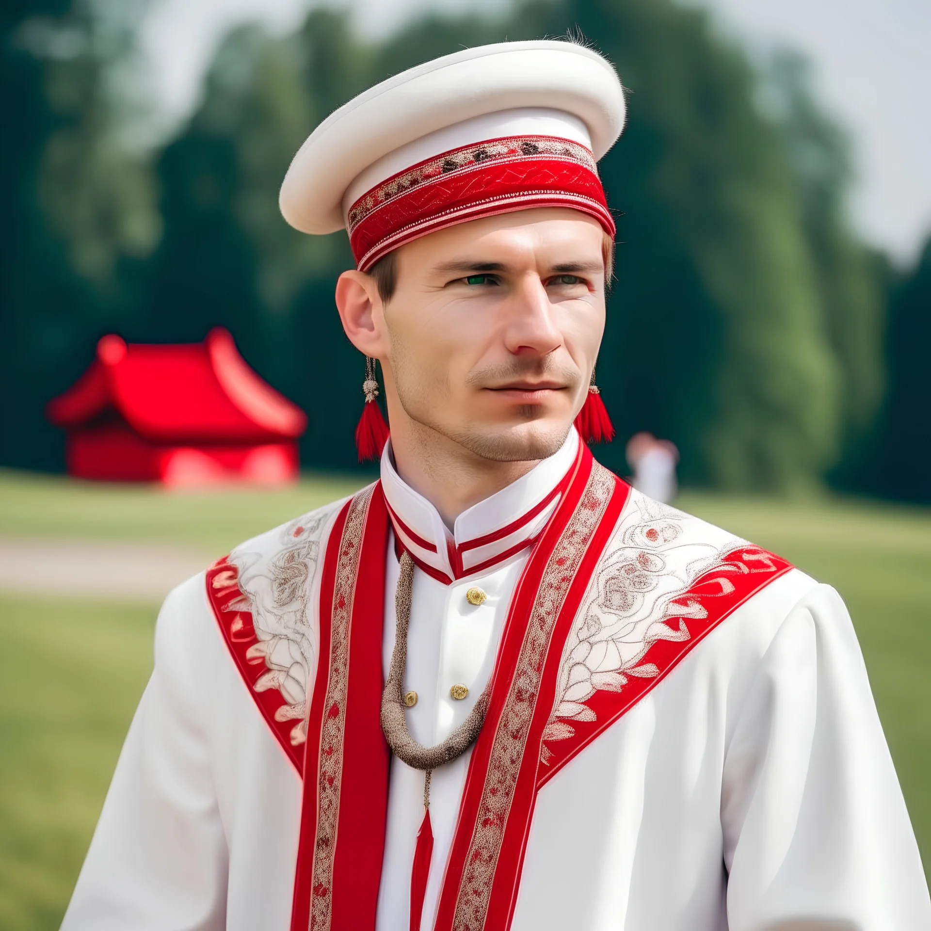
M745 542L631 490L566 640L543 739L565 740L575 733L570 722L596 721L586 702L597 691L620 692L629 676L657 675L653 663L641 662L644 654L656 641L688 640L681 617L707 614L697 600L670 602ZM678 625L670 626L670 617L680 618Z

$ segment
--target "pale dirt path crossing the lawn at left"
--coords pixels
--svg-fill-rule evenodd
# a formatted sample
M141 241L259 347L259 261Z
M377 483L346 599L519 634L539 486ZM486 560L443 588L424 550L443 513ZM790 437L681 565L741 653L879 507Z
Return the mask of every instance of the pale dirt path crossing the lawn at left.
M0 537L0 591L161 600L210 562L161 544Z

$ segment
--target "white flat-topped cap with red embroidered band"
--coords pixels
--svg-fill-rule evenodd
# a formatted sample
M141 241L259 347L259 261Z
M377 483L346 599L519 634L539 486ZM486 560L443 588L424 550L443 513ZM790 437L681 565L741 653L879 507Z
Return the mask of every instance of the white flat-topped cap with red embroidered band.
M291 162L281 212L304 233L346 227L353 236L366 227L353 241L360 266L377 261L374 252L384 254L376 248L383 240L397 248L411 231L422 236L438 228L438 213L445 225L472 218L482 199L492 205L484 213L553 206L565 200L560 194L577 201L565 206L600 200L581 209L613 232L595 162L617 140L624 118L614 67L590 48L554 40L468 48L390 77L328 116ZM541 161L555 174L541 171ZM527 169L526 203L516 196L515 165ZM499 183L504 166L506 189ZM462 192L440 190L464 171L473 192L465 212ZM589 190L590 176L597 192ZM418 196L405 199L413 188ZM426 201L421 188L429 189ZM424 220L430 222L422 229Z

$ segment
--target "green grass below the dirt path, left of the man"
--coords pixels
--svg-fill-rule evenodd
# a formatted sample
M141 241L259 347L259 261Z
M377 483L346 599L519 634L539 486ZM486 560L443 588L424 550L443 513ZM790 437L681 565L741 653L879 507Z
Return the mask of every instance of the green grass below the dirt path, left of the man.
M51 931L152 667L155 605L0 598L0 928Z

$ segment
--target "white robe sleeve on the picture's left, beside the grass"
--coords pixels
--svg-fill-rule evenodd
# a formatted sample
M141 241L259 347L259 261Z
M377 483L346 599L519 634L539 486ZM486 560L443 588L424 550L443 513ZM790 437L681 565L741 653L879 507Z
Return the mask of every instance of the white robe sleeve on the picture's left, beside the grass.
M190 667L209 610L204 577L176 588L155 628L155 670L62 931L220 931L227 848L210 775L204 703ZM198 714L198 709L200 714Z

